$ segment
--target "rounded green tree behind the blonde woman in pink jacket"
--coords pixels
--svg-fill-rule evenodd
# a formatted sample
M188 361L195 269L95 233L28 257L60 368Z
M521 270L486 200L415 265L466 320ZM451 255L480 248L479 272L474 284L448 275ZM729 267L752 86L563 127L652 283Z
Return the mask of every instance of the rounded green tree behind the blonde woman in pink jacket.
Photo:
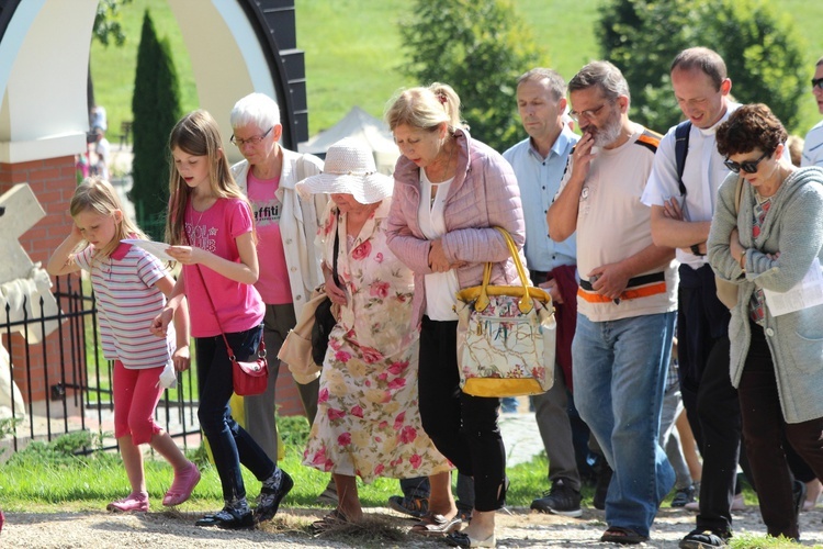
M420 86L448 83L460 96L473 137L497 150L519 141L517 78L546 54L508 0L415 0L401 21L408 61Z

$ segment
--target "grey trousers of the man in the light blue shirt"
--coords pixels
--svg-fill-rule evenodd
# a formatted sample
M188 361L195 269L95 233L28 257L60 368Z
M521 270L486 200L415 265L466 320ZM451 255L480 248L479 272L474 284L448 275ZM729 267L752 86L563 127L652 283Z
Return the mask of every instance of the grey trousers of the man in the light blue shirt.
M580 474L577 471L574 442L572 441L566 380L563 376L563 369L559 365L554 367L554 384L552 388L531 399L534 404L534 419L538 423L540 438L543 439L545 455L549 458L549 482L553 483L563 479L568 488L579 492Z

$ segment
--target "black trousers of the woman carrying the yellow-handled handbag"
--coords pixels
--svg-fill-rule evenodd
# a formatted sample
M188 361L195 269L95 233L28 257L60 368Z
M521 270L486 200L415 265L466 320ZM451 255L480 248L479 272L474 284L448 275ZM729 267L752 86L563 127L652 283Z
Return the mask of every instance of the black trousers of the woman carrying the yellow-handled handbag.
M474 508L503 508L506 450L497 426L499 399L460 390L458 323L422 318L418 374L422 428L461 474L474 479Z

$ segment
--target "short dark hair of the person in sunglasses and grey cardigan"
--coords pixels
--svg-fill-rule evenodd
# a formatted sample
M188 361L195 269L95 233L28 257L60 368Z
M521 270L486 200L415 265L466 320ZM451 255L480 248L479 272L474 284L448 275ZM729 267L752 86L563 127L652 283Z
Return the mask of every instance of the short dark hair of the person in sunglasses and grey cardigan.
M770 155L788 136L782 122L767 105L744 104L718 126L718 153L729 158L759 148Z

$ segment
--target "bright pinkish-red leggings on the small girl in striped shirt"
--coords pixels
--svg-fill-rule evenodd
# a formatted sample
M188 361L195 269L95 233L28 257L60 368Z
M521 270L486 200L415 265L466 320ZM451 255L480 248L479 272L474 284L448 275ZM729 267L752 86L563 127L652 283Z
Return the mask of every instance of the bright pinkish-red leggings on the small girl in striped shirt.
M158 383L162 366L129 370L114 361L114 437L132 435L132 442L142 445L161 433L155 423L155 408L164 388Z

